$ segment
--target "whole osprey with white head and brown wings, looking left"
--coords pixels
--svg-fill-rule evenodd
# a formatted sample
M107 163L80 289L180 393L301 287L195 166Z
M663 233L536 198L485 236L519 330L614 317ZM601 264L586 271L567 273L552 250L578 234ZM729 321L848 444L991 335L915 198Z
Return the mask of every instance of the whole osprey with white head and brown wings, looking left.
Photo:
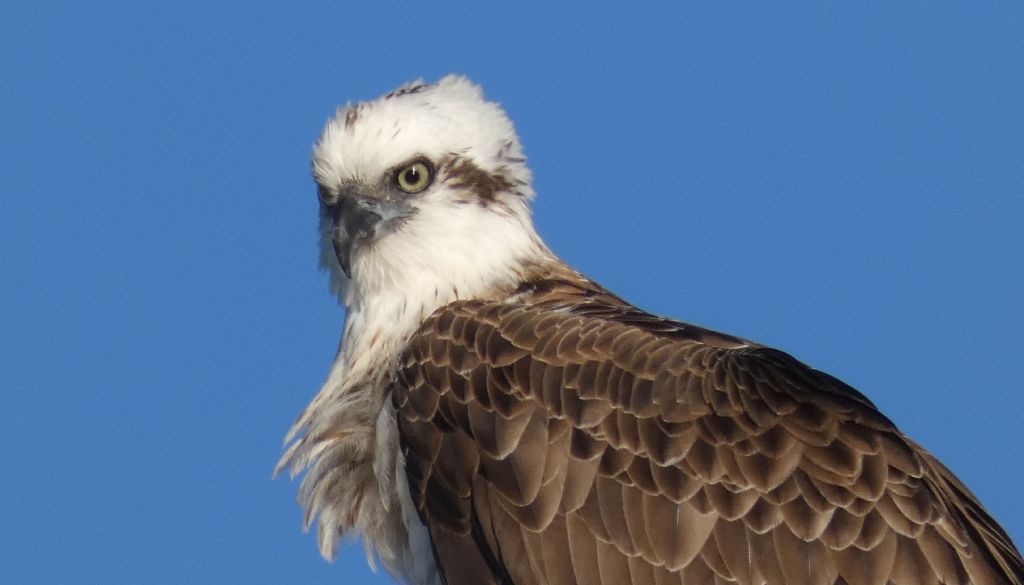
M1024 584L1007 533L863 394L559 260L463 77L340 109L312 154L347 307L279 469L330 557L410 584Z

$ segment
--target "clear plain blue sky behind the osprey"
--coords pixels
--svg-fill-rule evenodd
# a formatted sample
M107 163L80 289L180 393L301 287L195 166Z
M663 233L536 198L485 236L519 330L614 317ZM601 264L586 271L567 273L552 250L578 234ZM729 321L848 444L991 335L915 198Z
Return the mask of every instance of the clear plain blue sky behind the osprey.
M1024 544L1020 5L18 4L3 582L387 582L270 479L344 315L308 154L450 72L516 121L567 261L857 386Z

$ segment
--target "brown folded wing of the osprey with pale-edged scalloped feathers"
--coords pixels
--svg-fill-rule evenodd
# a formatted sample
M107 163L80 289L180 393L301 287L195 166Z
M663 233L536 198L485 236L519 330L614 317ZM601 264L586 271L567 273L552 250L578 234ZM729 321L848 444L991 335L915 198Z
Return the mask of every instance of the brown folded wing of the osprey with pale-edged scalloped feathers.
M394 400L450 585L1024 584L859 392L586 281L439 309Z

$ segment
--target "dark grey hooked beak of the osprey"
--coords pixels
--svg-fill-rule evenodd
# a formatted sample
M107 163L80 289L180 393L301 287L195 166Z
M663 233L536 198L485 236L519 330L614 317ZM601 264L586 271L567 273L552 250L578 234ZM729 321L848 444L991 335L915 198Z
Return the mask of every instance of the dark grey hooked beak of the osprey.
M343 193L329 209L334 217L334 253L348 278L352 278L352 252L356 246L374 240L411 211L404 202L370 197L357 191Z

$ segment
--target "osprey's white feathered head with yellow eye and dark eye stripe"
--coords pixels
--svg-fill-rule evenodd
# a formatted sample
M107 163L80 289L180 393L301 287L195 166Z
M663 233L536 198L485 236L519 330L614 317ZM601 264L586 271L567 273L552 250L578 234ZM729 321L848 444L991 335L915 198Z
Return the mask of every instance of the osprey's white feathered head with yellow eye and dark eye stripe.
M512 122L464 77L341 108L312 168L321 262L347 305L409 289L472 295L547 254Z

